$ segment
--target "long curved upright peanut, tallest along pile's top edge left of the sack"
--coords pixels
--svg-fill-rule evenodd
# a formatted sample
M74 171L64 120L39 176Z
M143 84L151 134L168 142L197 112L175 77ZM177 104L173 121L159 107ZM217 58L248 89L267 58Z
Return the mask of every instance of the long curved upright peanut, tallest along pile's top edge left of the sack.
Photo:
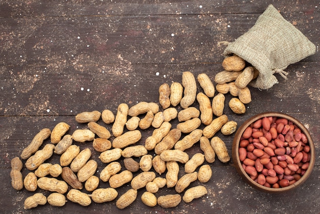
M185 87L185 91L180 105L182 108L187 109L195 101L197 94L196 80L191 72L182 73L182 85Z

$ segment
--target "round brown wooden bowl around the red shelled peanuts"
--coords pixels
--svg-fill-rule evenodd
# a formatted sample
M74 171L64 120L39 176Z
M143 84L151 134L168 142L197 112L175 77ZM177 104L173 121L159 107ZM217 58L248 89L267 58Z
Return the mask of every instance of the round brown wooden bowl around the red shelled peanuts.
M308 143L310 146L310 162L309 162L309 167L307 168L305 174L300 178L300 180L296 181L293 184L290 184L289 186L286 187L280 187L280 188L273 188L273 187L266 187L264 185L261 185L259 183L257 183L256 181L254 181L252 178L250 178L250 176L245 172L245 170L242 167L242 163L239 159L239 143L240 143L240 139L241 136L243 134L243 132L245 131L245 129L252 124L253 122L263 118L263 117L279 117L279 118L285 118L288 121L291 121L293 124L295 124L296 126L298 126L301 131L306 135L307 139L308 139ZM264 191L264 192L269 192L269 193L281 193L281 192L285 192L291 189L294 189L298 186L300 186L301 184L303 184L308 177L310 176L313 166L314 166L314 162L315 162L315 148L314 148L314 143L312 141L312 138L308 132L308 130L306 129L306 127L298 120L296 120L295 118L286 115L286 114L282 114L282 113L277 113L277 112L266 112L266 113L261 113L258 114L256 116L253 116L252 118L249 118L248 120L246 120L238 129L235 138L233 140L233 146L232 146L232 157L233 157L233 161L235 164L235 167L238 171L238 173L240 174L240 176L251 186Z

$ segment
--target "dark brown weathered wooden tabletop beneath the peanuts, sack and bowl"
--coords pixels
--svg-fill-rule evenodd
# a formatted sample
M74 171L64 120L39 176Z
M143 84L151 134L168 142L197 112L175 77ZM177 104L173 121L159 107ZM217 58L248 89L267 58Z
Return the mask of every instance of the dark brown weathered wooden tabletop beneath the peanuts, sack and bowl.
M20 155L39 130L52 130L64 121L71 125L72 133L86 128L75 121L80 112L109 109L116 113L120 103L132 106L140 101L158 102L159 85L181 82L183 71L195 76L207 73L213 80L222 71L224 47L218 47L217 42L233 41L242 35L269 4L315 44L316 54L290 65L286 69L288 79L277 76L279 84L271 89L250 88L253 101L246 105L244 115L235 115L228 108L224 113L239 125L266 111L283 112L305 124L315 143L316 161L302 186L280 195L266 194L241 180L232 160L222 164L216 158L211 164L213 176L204 184L208 195L188 204L182 201L175 208L145 206L140 199L141 189L136 201L124 210L116 207L116 201L88 207L69 201L61 208L46 204L24 209L24 200L33 192L11 187L10 160ZM3 1L0 212L319 213L319 7L318 1ZM230 98L227 95L226 101ZM102 120L98 123L103 124ZM175 126L177 120L172 124ZM143 131L137 144L144 144L152 131ZM231 155L234 135L217 136L225 141ZM77 144L92 148L90 142ZM198 144L188 149L190 157L198 151ZM92 159L99 166L97 176L105 166L98 156L93 152ZM55 155L48 161L58 163L59 157ZM24 176L28 172L22 169ZM107 186L103 182L99 185ZM117 189L119 196L129 188L128 184ZM48 191L36 192L49 195ZM157 196L170 193L174 190L163 188Z

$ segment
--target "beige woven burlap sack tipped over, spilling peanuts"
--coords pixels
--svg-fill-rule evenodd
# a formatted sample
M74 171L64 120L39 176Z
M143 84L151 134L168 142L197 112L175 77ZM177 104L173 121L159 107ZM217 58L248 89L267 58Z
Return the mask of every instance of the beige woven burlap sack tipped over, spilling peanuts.
M286 75L283 70L290 64L314 54L315 45L287 22L275 7L269 5L256 24L234 42L228 43L223 52L225 56L233 53L260 72L250 85L269 89L278 83L273 74Z

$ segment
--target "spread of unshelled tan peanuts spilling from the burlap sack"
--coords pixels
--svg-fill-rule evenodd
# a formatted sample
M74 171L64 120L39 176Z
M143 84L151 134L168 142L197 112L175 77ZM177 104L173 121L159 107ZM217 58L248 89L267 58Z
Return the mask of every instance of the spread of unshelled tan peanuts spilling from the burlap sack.
M158 204L165 208L177 206L183 191L182 200L186 203L207 194L207 188L203 185L188 187L196 180L205 183L211 179L209 163L215 161L215 156L223 163L230 161L225 143L215 136L218 131L223 135L231 135L237 129L237 122L229 121L223 114L224 94L230 92L234 96L228 103L234 113L245 113L244 104L251 101L247 84L255 78L254 68L244 69L245 63L239 57L225 58L222 66L225 71L215 76L215 82L218 83L216 90L219 92L216 96L215 87L208 75L202 73L197 76L203 89L203 92L197 93L194 75L183 72L182 84L164 83L159 87L159 104L163 111L159 111L159 105L154 102L139 102L130 108L126 103L121 103L116 115L110 110L77 114L76 121L87 123L88 129L67 134L70 125L65 122L56 124L52 131L42 129L20 157L12 159L10 176L12 186L17 190L25 187L28 191L35 191L39 187L53 193L48 197L42 193L28 197L25 208L43 205L47 201L52 206L63 206L66 198L82 206L88 206L92 200L96 203L108 202L118 197L117 188L129 182L131 188L116 201L119 209L133 203L139 189L145 189L141 197L144 204ZM199 110L191 106L195 100ZM175 108L178 104L183 109L179 112L179 108ZM111 132L108 126L97 123L100 118L104 124L111 126ZM172 127L170 121L176 118L179 123ZM205 125L203 130L199 129L201 123ZM145 145L138 144L142 138L141 132L149 128L154 129L152 135L147 137ZM184 137L181 137L182 134ZM112 142L109 140L111 136L114 138ZM49 137L51 143L39 150ZM94 150L100 153L100 162L105 164L99 177L95 176L98 162L90 159L91 149L80 151L74 142L93 143ZM203 153L189 157L186 149L197 142ZM154 157L148 154L149 151L154 151ZM45 162L53 154L60 156L60 164ZM30 170L24 179L20 158L26 160L25 166ZM123 161L125 169L120 161ZM184 164L185 173L178 178L181 164ZM133 176L135 172L139 174ZM161 176L165 172L165 176ZM110 187L98 188L101 181L108 182ZM83 185L90 194L81 191ZM158 189L165 185L174 188L177 194L156 197Z

